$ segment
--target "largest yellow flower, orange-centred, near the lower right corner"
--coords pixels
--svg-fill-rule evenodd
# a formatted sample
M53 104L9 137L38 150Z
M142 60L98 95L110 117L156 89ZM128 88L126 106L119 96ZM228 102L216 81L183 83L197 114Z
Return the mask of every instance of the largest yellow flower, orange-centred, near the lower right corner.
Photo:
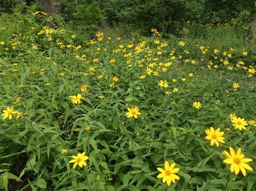
M238 174L239 171L242 172L242 174L245 176L246 171L245 169L249 171L253 171L252 167L247 165L247 162L251 162L252 159L245 158L244 154L241 154L241 148L238 148L237 153L233 150L232 147L230 147L230 153L227 151L224 151L227 159L225 159L223 162L227 164L231 164L230 171L235 172L235 174Z

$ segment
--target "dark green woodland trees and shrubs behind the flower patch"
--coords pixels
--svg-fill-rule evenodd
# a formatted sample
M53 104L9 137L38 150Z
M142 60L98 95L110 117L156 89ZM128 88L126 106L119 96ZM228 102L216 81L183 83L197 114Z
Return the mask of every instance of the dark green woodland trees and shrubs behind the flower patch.
M38 0L3 0L0 14L11 12L17 3L22 2L41 6ZM238 36L247 38L255 8L253 0L61 1L61 15L65 22L79 33L86 31L87 37L92 37L102 26L122 26L144 36L149 36L150 29L154 28L180 37L187 30L201 35L198 27L205 25L232 24L238 29Z

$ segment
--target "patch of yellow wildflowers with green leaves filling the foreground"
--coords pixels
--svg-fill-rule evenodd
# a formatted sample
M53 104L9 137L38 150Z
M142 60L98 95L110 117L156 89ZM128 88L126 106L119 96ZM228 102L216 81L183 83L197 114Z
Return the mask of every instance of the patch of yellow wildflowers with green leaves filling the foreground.
M33 9L0 18L3 189L255 188L253 41L84 39Z

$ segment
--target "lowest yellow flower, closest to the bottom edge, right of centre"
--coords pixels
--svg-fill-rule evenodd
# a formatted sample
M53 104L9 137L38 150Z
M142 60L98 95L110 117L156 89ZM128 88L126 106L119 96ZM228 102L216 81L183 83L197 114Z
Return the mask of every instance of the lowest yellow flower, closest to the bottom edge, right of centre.
M166 160L164 164L164 168L157 168L160 174L157 175L158 179L163 178L163 183L167 183L168 186L171 185L171 182L175 183L175 179L179 180L179 176L175 173L179 172L179 168L175 167L175 162L169 166L169 162Z

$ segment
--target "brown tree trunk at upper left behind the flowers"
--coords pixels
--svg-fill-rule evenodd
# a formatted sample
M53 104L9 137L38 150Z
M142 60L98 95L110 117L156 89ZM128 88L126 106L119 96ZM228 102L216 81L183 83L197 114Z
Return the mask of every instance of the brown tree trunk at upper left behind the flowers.
M60 14L60 0L40 0L43 5L43 11L50 17L53 14Z

